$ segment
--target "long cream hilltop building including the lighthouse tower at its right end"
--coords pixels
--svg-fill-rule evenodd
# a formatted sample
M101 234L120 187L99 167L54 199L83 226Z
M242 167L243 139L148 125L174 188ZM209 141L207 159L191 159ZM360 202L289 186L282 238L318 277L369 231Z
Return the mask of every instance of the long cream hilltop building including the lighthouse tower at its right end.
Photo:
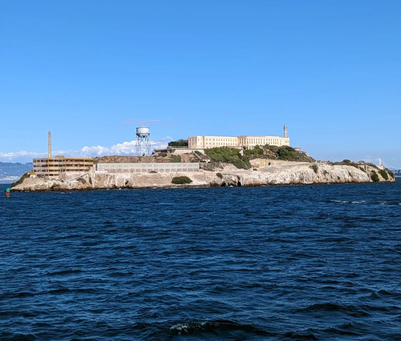
M211 136L211 135L196 135L188 136L189 148L214 148L221 146L228 147L247 147L253 149L255 145L290 145L290 138L287 136L287 126L284 125L284 137L280 136Z

